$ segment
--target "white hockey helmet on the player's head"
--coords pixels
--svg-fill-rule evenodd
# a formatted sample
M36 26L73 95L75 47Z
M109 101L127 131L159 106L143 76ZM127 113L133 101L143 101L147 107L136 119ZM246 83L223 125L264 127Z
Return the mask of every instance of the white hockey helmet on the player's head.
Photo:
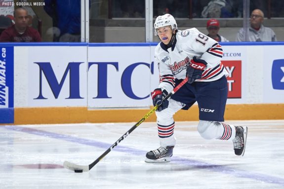
M170 14L164 14L162 16L158 16L155 20L155 36L158 35L157 29L164 26L170 26L172 30L177 30L177 24L174 17Z

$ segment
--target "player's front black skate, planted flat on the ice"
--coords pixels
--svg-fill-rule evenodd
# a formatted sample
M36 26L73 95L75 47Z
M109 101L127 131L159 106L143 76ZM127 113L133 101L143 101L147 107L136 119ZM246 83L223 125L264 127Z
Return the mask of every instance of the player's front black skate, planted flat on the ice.
M145 162L147 163L163 163L169 162L170 157L172 156L172 147L160 147L157 150L149 151L146 153Z

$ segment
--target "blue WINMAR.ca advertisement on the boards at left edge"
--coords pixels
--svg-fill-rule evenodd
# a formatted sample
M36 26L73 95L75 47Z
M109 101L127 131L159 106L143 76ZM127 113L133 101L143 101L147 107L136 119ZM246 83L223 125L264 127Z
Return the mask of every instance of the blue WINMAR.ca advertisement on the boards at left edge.
M0 123L14 122L13 47L0 46Z

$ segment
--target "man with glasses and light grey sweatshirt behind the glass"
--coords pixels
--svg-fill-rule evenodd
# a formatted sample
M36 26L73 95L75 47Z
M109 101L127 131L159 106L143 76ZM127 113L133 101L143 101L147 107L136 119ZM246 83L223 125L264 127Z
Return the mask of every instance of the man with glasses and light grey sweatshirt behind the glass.
M250 26L248 28L248 41L277 41L274 31L263 26L264 14L260 9L255 9L250 15ZM244 41L241 28L237 34L236 41Z

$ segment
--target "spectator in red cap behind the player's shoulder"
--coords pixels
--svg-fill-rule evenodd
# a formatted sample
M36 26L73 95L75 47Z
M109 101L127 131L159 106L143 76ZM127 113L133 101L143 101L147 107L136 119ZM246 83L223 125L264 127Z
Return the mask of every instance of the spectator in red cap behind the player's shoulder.
M220 29L220 24L218 20L210 19L207 21L207 31L209 33L207 35L208 37L218 42L229 42L229 40L218 34L219 29Z

